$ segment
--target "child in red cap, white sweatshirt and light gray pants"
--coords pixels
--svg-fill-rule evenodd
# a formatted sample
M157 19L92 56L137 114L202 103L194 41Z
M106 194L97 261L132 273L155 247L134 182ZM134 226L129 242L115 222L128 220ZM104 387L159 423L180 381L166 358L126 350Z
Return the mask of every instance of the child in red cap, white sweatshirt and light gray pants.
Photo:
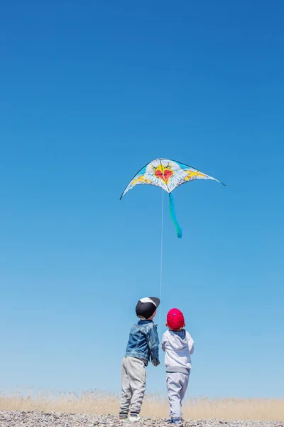
M193 339L185 331L185 318L178 308L172 308L167 315L168 331L163 334L162 349L165 352L170 423L182 425L182 399L185 397L190 377Z

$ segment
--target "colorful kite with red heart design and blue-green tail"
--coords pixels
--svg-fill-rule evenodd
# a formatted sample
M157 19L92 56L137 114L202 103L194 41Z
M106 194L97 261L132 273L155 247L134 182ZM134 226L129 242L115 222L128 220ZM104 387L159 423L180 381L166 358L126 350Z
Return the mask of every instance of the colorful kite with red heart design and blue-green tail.
M194 181L195 179L213 179L220 184L223 184L218 179L213 178L204 174L204 172L198 171L187 164L175 162L174 160L168 159L156 159L146 164L129 182L126 189L121 194L122 197L127 191L133 189L138 184L149 184L160 186L163 190L167 191L170 197L170 216L175 224L178 238L182 237L182 229L180 228L177 218L175 216L175 206L173 203L172 191L181 184L186 182ZM225 184L223 184L225 185Z

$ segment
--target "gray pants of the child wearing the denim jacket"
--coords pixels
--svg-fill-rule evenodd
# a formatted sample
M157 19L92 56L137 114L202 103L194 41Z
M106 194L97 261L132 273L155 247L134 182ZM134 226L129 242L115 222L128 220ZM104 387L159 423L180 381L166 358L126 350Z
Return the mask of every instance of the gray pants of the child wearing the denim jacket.
M146 369L141 359L124 357L121 364L121 399L119 415L127 416L131 407L131 415L141 411L146 388Z

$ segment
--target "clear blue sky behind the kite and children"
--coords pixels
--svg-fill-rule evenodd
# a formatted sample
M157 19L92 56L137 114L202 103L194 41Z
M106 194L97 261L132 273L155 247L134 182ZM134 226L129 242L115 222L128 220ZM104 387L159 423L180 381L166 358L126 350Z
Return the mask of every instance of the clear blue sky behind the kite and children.
M195 339L188 395L283 396L283 14L2 1L2 389L119 390L136 301L159 294L161 190L119 196L168 157L227 184L175 190L182 240L165 198L160 310Z

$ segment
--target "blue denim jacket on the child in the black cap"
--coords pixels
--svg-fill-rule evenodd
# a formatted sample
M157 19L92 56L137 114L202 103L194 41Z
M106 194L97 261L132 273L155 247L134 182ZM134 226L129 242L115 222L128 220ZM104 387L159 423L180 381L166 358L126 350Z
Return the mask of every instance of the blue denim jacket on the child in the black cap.
M131 327L125 356L151 360L154 364L159 363L157 325L152 320L139 320Z

